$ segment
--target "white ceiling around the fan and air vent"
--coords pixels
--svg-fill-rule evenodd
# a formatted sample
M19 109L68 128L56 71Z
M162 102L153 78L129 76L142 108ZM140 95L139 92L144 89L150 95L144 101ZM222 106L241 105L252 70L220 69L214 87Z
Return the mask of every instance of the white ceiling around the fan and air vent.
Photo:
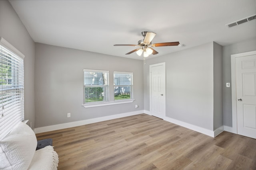
M154 47L154 57L215 41L229 45L256 37L256 20L225 24L256 14L255 0L9 0L38 43L142 59L142 31L152 43L180 41L184 47ZM150 55L153 57L153 55Z

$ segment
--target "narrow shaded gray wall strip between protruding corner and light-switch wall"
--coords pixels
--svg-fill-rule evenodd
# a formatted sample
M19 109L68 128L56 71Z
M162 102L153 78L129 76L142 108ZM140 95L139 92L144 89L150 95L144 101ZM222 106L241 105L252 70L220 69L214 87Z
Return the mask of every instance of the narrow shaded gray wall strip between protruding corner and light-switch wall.
M213 43L213 130L223 125L222 114L222 46Z

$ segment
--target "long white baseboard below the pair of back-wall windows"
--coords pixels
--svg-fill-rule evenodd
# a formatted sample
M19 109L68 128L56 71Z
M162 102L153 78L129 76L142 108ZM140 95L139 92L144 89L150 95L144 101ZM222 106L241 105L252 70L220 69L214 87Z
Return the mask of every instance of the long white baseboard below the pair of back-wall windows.
M86 119L86 120L81 120L81 121L73 121L73 122L62 123L62 124L58 124L58 125L37 127L37 128L34 129L34 131L35 131L35 133L55 131L55 130L58 130L58 129L65 129L65 128L69 128L69 127L87 125L87 124L90 124L90 123L96 123L96 122L100 122L100 121L106 121L106 120L117 119L117 118L121 118L121 117L138 115L138 114L141 114L141 113L144 113L144 110L132 111L132 112L128 112L128 113L121 113L121 114L104 116L104 117L97 117L97 118Z

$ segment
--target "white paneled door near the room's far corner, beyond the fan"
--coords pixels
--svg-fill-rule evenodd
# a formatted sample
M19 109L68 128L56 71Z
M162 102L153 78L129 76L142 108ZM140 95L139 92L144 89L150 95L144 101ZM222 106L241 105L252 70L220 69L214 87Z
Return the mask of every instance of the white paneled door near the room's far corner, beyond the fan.
M165 117L165 63L150 65L150 113Z

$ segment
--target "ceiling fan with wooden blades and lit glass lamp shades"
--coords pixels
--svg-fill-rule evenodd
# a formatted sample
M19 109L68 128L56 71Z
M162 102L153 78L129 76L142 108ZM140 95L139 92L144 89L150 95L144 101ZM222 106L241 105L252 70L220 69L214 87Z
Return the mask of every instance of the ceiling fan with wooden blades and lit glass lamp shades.
M141 39L138 41L138 45L132 45L132 44L115 44L114 46L134 46L139 47L135 50L130 51L129 53L126 53L126 55L136 52L137 55L141 56L143 53L143 57L148 57L148 55L153 54L156 55L158 52L154 50L152 47L163 47L163 46L177 46L180 43L179 42L169 42L169 43L154 43L152 44L152 39L156 36L156 33L153 32L147 32L142 31L141 32L144 39Z

